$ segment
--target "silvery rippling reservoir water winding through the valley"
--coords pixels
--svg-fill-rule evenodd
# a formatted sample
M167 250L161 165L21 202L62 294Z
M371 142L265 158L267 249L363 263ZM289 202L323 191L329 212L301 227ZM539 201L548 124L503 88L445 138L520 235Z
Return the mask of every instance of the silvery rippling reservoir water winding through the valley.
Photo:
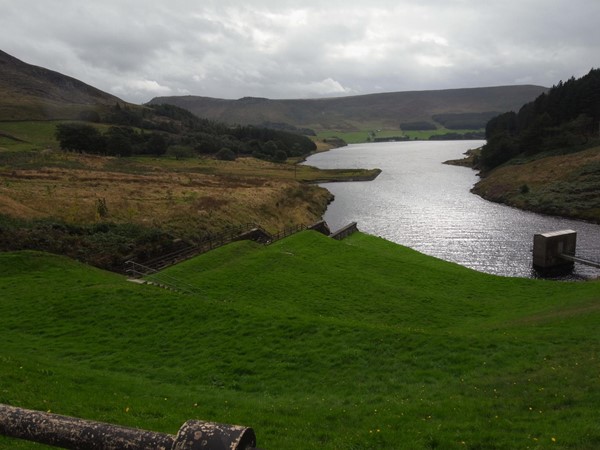
M470 168L443 164L484 141L412 141L355 144L312 155L324 169L379 168L373 181L324 183L335 195L324 219L332 231L350 222L421 253L480 272L536 277L533 235L577 231L577 256L600 260L600 225L535 214L492 203L470 192ZM600 269L575 264L565 279L595 278Z

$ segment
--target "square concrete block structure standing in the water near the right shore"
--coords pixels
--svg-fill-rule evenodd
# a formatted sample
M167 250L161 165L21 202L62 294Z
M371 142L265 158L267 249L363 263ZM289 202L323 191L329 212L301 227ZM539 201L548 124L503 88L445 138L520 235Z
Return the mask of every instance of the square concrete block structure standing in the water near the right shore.
M533 236L533 267L536 269L552 269L572 267L573 261L564 258L575 256L577 232L573 230L552 231Z

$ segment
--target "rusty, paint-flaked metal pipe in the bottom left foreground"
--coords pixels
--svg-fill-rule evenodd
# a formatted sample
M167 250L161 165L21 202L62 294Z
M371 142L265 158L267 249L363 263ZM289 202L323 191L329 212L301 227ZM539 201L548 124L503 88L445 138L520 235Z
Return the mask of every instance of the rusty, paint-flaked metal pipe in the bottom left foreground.
M251 450L252 428L200 420L176 436L0 404L0 434L73 450Z

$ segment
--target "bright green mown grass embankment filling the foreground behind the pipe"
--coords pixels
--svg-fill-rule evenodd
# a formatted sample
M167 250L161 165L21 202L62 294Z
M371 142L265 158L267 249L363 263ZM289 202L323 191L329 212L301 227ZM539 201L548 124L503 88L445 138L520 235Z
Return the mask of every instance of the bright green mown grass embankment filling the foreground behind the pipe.
M270 449L597 448L600 285L304 232L169 269L198 297L0 254L0 402ZM33 448L0 440L2 448Z

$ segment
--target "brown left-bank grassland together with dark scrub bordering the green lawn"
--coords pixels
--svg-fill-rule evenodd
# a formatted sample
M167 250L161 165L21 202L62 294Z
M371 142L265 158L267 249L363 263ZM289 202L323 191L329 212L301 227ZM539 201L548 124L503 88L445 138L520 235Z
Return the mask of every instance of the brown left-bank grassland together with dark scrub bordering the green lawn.
M315 181L379 173L255 158L79 154L56 149L54 122L2 126L38 138L0 138L0 251L45 250L115 271L127 259L168 253L174 238L198 243L248 223L271 233L313 224L332 199Z

